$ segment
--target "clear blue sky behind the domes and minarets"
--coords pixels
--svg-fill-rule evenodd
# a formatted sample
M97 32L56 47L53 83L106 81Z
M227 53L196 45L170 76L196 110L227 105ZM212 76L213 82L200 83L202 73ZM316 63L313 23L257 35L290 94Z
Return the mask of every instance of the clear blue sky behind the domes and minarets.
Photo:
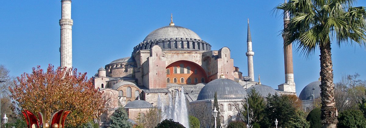
M284 82L283 19L273 8L283 0L240 1L72 1L73 66L93 76L111 61L131 56L132 48L151 31L175 25L195 31L213 50L231 49L234 65L247 74L246 34L250 19L254 74L262 84L277 89ZM358 0L356 6L366 6ZM32 67L60 65L60 0L3 0L0 5L0 64L11 76ZM332 44L334 81L358 72L366 79L366 49ZM309 59L294 50L296 92L319 78L317 51Z

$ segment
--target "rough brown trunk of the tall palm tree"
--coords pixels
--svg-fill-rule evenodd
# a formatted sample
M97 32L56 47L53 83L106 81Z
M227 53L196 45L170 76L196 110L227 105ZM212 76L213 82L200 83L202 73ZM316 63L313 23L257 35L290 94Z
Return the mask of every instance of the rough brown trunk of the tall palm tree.
M330 52L330 41L320 45L320 76L321 76L321 119L322 128L336 128L337 108L334 101L333 64Z

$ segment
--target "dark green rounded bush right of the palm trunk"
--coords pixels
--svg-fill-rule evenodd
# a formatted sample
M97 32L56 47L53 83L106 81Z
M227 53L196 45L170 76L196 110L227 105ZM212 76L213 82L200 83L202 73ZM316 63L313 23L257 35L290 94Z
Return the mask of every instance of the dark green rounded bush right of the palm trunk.
M366 118L360 110L345 110L339 114L338 120L340 128L366 128Z

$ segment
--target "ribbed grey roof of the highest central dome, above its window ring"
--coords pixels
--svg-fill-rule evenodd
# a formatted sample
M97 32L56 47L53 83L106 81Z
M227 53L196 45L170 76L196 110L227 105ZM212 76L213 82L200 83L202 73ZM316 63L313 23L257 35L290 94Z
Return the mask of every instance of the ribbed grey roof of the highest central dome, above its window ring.
M143 41L158 40L164 38L188 38L188 39L201 39L195 32L190 29L180 26L165 26L152 31L149 35L143 39Z

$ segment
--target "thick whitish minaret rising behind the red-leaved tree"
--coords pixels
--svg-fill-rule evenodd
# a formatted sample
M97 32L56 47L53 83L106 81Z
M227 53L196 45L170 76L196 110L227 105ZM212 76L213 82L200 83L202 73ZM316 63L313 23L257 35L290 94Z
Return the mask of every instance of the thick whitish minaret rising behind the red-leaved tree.
M72 24L71 0L61 0L61 46L60 67L72 68Z

